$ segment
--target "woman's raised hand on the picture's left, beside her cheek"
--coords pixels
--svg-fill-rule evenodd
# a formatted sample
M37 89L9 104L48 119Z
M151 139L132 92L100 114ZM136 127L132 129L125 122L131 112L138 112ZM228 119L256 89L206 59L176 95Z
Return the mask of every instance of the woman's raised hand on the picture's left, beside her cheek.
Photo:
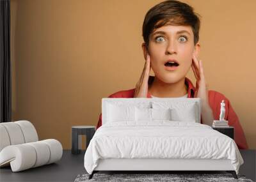
M140 80L136 84L134 91L134 98L147 98L148 94L148 77L150 73L150 56L147 54L147 58L144 64L143 72L141 73Z

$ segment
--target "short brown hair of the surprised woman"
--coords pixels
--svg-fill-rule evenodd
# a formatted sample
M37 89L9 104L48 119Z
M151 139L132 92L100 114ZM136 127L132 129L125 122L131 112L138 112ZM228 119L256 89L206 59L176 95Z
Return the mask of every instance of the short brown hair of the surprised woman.
M200 15L186 3L168 0L150 8L143 22L143 39L148 48L149 36L157 28L167 24L173 26L191 26L194 34L194 44L199 40Z

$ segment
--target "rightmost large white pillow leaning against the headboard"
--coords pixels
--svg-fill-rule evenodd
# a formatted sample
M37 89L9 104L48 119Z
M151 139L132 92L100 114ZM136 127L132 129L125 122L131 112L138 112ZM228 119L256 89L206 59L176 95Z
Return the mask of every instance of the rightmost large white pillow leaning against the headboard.
M171 120L172 121L188 121L196 123L196 105L191 104L187 107L172 108L171 109Z

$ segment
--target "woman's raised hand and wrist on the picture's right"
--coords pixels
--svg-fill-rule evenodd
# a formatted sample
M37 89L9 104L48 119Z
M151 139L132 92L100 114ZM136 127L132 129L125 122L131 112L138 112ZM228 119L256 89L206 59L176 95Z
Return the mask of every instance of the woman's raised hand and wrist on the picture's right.
M208 100L208 85L205 82L202 60L198 61L195 54L193 54L193 61L191 67L196 78L196 91L194 97L200 98L201 100L201 113L203 124L211 126L214 117Z

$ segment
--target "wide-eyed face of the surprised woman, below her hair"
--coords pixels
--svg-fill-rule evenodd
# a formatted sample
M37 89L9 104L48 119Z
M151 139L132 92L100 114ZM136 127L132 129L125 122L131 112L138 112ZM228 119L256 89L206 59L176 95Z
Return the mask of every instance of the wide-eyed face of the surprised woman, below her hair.
M168 25L154 30L150 34L148 53L156 77L166 83L175 83L184 78L191 67L194 49L194 35L190 26ZM179 66L165 66L169 59L175 59Z

